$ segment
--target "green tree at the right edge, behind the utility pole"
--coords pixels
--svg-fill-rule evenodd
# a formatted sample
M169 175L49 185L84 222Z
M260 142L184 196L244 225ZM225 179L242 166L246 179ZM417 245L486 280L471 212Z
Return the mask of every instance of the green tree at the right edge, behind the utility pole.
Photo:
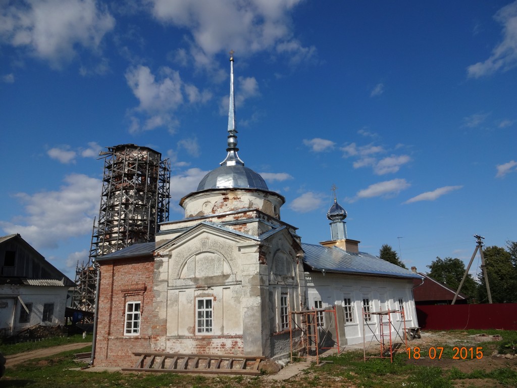
M511 249L510 249L511 250ZM494 303L516 303L517 302L517 268L512 263L512 253L498 246L491 246L483 249L486 273ZM485 280L481 268L478 275L481 286L479 296L481 301L488 301Z

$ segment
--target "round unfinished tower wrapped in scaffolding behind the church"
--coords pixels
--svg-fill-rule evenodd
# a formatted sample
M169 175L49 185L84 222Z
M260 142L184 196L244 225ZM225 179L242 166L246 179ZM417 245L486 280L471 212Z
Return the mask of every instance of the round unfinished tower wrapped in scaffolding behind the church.
M169 159L148 147L107 147L99 216L94 220L88 263L75 271L72 307L94 311L97 285L95 258L133 244L155 241L159 223L169 220Z

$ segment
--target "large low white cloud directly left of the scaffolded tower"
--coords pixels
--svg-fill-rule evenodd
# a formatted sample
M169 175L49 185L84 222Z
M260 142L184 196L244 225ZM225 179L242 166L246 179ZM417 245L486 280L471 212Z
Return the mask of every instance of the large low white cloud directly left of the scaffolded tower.
M83 174L70 174L56 191L40 191L16 196L25 215L16 221L0 221L4 232L20 233L36 249L56 248L70 237L91 233L99 211L101 180Z

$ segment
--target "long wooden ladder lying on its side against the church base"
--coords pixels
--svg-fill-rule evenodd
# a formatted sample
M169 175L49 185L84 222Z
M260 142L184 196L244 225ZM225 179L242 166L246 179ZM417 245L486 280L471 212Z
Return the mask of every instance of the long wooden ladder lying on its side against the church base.
M258 364L264 356L143 353L133 352L139 360L132 368L139 372L212 373L232 375L260 375Z

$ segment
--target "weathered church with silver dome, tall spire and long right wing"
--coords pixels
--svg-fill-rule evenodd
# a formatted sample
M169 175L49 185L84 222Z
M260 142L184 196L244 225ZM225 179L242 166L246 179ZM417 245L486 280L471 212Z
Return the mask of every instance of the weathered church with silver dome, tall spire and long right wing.
M297 228L281 219L284 197L237 155L230 61L221 166L180 200L185 218L161 223L156 242L96 259L95 365L131 367L138 361L132 352L283 359L291 310L338 306L342 345L362 342L363 324L378 332L379 316L370 312L403 308L406 326L418 325L412 288L421 277L360 252L359 241L346 236L346 212L336 200L327 214L332 240L320 245L302 243ZM294 333L300 340L301 332Z

